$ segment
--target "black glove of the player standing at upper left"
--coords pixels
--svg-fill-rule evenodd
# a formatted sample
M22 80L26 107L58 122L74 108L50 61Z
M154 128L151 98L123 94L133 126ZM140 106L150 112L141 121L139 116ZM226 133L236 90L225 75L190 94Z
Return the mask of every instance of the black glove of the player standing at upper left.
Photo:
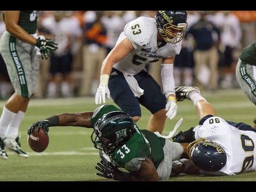
M49 38L37 38L36 46L40 49L41 58L48 59L52 51L58 49L58 43L51 41Z

